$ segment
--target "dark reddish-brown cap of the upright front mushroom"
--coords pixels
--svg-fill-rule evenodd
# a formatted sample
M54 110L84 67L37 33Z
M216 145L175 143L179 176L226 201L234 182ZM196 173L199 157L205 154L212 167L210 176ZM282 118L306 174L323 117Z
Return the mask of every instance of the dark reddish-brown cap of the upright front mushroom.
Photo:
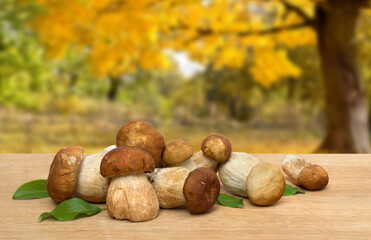
M153 172L155 162L151 154L137 147L118 147L102 159L100 174L107 178L139 172Z

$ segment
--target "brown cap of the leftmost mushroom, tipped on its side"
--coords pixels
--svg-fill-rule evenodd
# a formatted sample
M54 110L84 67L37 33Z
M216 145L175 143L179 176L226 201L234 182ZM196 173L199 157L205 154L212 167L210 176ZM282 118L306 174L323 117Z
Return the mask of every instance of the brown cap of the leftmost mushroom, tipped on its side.
M49 196L56 202L72 198L84 148L70 146L59 150L50 166L46 184Z

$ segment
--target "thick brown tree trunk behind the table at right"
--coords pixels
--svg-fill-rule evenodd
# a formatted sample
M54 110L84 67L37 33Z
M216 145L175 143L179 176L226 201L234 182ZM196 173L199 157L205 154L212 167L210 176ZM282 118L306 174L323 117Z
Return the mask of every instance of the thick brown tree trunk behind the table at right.
M370 151L367 98L356 64L355 31L361 2L328 0L316 6L327 120L320 152Z

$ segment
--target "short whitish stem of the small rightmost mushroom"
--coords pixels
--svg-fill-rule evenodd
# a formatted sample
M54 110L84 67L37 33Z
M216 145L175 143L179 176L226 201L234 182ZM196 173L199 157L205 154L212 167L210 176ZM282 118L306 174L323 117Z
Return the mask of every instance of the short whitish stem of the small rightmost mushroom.
M300 156L289 154L282 162L282 170L287 174L287 176L295 185L300 185L300 183L298 182L299 174L305 167L311 165L312 164L310 161Z

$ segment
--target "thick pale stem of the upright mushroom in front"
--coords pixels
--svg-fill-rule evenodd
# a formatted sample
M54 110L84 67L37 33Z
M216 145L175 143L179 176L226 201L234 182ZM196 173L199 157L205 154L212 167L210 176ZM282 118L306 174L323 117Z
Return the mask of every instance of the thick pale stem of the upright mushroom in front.
M113 177L106 203L108 214L116 219L142 222L159 213L155 190L144 173Z

